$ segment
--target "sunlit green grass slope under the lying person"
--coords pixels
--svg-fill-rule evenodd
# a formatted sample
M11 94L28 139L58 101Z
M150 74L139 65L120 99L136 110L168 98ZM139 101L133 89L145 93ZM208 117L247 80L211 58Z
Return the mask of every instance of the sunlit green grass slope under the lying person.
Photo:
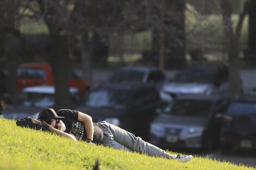
M91 146L54 134L17 127L0 118L0 169L254 169L230 162L194 157L188 163ZM173 154L172 152L170 152Z

